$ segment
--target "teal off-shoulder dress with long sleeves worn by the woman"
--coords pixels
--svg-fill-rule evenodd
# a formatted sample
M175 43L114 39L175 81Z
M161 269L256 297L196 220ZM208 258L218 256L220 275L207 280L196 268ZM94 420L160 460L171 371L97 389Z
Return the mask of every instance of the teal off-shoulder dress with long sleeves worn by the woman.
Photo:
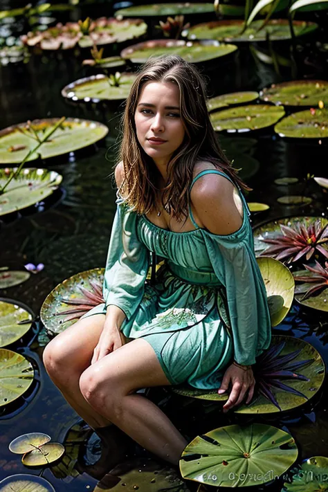
M230 180L218 170L205 170L192 185L209 173ZM126 315L121 331L152 345L172 385L217 389L233 359L254 364L270 344L266 290L241 197L243 223L229 235L199 228L191 209L195 229L174 233L118 198L104 273L105 303L85 316L105 313L109 304L120 307ZM153 282L146 279L151 253L164 259Z

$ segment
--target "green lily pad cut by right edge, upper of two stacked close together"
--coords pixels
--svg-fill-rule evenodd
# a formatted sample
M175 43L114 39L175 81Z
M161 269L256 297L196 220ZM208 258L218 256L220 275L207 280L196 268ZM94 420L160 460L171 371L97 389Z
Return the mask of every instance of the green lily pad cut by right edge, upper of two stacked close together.
M259 96L265 102L284 106L318 106L322 101L328 104L327 80L292 80L272 84L263 89Z

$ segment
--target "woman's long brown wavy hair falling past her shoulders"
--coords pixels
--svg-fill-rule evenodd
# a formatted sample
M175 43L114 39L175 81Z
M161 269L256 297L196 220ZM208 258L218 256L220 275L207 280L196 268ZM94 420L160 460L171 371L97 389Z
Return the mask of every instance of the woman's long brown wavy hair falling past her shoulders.
M222 170L244 190L249 190L228 158L222 152L206 107L206 82L199 71L176 55L152 57L143 65L131 86L122 118L122 140L118 158L124 166L119 192L127 205L138 214L148 214L156 202L156 181L159 172L136 136L134 115L143 85L152 82L173 82L179 86L180 114L185 127L183 143L167 164L167 183L163 188L162 205L179 221L188 217L189 188L197 161L208 161Z

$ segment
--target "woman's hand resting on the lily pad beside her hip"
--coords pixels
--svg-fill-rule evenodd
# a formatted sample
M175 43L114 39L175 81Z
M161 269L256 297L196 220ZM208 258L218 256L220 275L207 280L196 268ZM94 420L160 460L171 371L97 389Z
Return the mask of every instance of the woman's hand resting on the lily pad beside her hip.
M244 400L246 393L248 392L248 398L246 405L253 398L255 379L251 367L248 370L244 370L241 367L237 367L235 364L231 364L224 373L224 379L221 383L221 388L218 390L219 394L223 394L228 390L229 385L232 388L230 391L229 399L224 404L224 412L227 412L230 408L240 405Z

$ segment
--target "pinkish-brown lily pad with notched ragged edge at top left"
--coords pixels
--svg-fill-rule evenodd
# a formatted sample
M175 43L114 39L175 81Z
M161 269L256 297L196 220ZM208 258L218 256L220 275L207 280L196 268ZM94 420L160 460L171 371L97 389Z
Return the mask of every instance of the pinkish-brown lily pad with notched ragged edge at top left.
M42 50L67 50L77 44L80 48L91 48L94 44L121 43L135 39L147 33L147 24L142 19L118 20L113 17L100 17L91 21L89 34L83 35L78 22L57 24L57 26L42 31L29 32L21 36L27 46L37 46Z

